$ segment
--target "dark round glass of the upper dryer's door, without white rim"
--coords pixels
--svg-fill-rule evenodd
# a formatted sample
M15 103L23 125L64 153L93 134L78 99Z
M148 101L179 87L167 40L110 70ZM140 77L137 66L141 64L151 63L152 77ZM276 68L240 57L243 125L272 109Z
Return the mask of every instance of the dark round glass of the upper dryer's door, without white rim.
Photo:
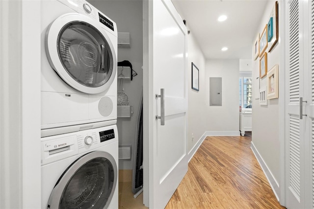
M59 33L58 54L65 70L80 84L104 85L112 74L112 52L104 36L87 23L73 22Z

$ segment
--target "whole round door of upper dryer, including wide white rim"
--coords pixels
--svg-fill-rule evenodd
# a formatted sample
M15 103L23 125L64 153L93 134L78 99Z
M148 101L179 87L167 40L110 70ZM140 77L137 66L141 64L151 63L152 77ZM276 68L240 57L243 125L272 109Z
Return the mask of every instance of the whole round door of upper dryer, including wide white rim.
M57 74L78 91L98 94L114 80L113 44L105 29L85 15L58 17L46 33L46 54Z

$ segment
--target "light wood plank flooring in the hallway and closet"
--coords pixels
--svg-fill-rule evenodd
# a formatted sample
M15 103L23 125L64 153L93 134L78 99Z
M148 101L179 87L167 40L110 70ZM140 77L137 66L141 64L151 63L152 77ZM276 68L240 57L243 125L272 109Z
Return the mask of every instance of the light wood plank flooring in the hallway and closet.
M166 209L285 209L250 146L250 132L207 137ZM144 209L142 195L132 199L131 186L120 193L123 184L119 185L119 209Z

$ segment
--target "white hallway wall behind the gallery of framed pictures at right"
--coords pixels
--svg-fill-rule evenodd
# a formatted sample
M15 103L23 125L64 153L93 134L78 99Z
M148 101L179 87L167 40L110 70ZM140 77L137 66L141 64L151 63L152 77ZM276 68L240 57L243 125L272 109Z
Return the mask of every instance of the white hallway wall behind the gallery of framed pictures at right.
M280 2L279 2L280 3ZM265 8L264 16L261 18L259 30L256 33L262 33L264 26L268 23L270 11L275 1L270 0ZM280 7L279 7L280 8ZM279 14L281 14L279 12ZM279 26L281 24L279 23ZM281 27L279 27L279 34ZM253 44L253 40L252 40ZM280 41L271 52L267 49L267 68L270 70L275 64L280 64ZM279 66L279 71L283 69ZM253 89L259 83L256 79L259 77L259 58L253 62ZM266 85L266 77L261 79L261 85ZM279 141L279 110L278 99L268 100L268 105L260 105L259 100L255 99L253 91L252 100L252 143L262 157L270 171L272 178L278 183L280 182L280 141ZM279 97L283 95L279 92ZM275 186L276 187L276 186ZM275 188L276 189L276 188Z

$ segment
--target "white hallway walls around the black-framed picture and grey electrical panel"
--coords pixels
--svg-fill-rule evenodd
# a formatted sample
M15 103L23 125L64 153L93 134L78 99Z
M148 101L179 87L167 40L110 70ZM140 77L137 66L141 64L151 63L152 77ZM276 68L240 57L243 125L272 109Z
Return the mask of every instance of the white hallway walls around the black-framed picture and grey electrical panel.
M182 19L184 15L177 8ZM189 29L187 21L187 29ZM206 60L193 31L188 35L188 154L194 155L206 134L239 135L239 60ZM251 60L243 60L250 62ZM199 69L199 91L191 88L191 63ZM209 77L222 77L222 106L209 106Z

